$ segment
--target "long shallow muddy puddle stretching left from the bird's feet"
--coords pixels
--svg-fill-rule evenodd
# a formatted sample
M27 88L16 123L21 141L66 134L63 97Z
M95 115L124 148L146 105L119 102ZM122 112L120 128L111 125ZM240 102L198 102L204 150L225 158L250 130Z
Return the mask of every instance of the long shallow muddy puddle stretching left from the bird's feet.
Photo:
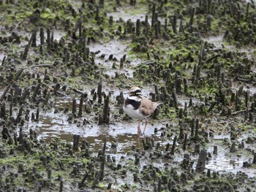
M70 139L68 139L68 141L72 141L72 135L74 134L79 134L80 137L84 138L97 137L99 135L111 135L112 137L116 137L121 134L137 134L137 126L137 121L133 120L131 120L130 123L116 123L108 126L99 126L91 123L84 126L77 126L74 125L74 123L69 124L67 120L63 119L63 115L54 114L53 111L48 112L48 115L40 115L39 122L29 124L29 128L37 130L42 139L61 137L63 133L69 133ZM151 124L148 123L145 134L154 134L154 128L156 128L156 126L151 126ZM158 126L158 128L160 127Z

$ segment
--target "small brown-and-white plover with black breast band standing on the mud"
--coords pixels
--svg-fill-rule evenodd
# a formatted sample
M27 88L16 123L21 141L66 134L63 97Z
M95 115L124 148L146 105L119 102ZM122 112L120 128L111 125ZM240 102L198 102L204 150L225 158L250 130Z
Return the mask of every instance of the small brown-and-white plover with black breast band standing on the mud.
M133 119L138 119L138 134L141 134L140 120L146 119L143 134L147 126L147 118L157 109L158 102L152 102L146 97L141 95L141 90L138 87L132 87L129 90L127 99L124 100L124 112Z

